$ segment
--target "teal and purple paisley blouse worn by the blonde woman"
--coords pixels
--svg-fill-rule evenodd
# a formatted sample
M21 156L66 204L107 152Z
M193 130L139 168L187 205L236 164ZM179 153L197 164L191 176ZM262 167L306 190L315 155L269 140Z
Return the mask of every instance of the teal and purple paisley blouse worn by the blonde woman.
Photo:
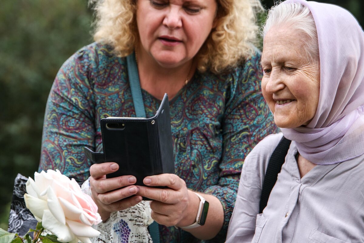
M170 100L175 173L188 188L221 200L225 222L214 242L224 241L245 156L266 135L276 132L260 92L260 53L230 73L194 74ZM142 90L147 117L160 100ZM59 70L44 117L39 170L59 169L79 182L91 163L83 148L102 152L100 119L135 116L126 58L112 48L90 44ZM159 226L161 242L200 242L175 227Z

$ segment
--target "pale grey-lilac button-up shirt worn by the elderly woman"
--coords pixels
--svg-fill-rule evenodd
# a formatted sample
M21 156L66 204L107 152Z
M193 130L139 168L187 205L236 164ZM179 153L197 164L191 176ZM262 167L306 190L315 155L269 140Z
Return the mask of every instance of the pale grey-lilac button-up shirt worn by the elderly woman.
M266 167L281 138L266 137L246 157L226 242L364 242L364 155L317 165L301 178L292 141L268 205L258 214Z

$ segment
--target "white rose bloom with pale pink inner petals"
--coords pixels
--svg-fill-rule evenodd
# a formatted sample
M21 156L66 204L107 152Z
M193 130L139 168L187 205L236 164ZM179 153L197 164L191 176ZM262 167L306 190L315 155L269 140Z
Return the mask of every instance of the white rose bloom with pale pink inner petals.
M35 172L34 180L29 177L26 188L27 208L60 242L91 243L89 238L100 234L92 228L102 221L97 206L74 179L59 170Z

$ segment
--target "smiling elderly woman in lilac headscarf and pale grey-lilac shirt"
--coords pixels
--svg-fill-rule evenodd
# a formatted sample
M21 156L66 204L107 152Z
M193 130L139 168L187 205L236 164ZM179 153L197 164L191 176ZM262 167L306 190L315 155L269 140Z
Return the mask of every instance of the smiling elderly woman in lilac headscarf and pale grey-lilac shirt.
M283 134L246 157L226 242L363 242L363 30L336 5L288 0L263 35L262 92ZM259 214L282 136L292 142Z

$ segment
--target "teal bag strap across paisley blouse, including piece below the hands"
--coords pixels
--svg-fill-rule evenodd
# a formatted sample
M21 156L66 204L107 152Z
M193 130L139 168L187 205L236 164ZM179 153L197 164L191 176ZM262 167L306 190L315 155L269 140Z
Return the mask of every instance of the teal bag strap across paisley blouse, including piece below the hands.
M140 88L137 62L135 61L135 52L132 52L130 55L126 57L126 62L128 66L129 84L130 84L131 97L133 99L135 113L137 114L137 117L147 118L147 116L145 115L142 89ZM154 221L153 223L150 224L149 234L153 240L153 243L161 242L159 238L159 224L157 222Z

